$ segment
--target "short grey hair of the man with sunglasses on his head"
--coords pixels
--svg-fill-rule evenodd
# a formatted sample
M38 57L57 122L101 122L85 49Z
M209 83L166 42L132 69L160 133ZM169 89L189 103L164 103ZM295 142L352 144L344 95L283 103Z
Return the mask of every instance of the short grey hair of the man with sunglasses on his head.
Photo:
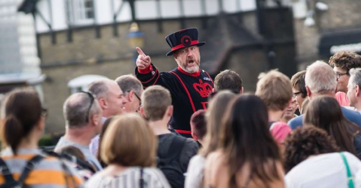
M93 115L100 114L100 105L97 100L93 100L87 93L74 93L68 97L63 106L65 125L69 128L81 128L88 124ZM89 114L88 114L89 113ZM88 116L88 119L86 118Z

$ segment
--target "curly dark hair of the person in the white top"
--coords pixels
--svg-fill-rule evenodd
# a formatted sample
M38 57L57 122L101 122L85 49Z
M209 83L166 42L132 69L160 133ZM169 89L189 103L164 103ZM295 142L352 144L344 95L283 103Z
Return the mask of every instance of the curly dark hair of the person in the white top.
M312 125L299 127L284 140L283 166L286 173L310 155L340 151L326 131Z

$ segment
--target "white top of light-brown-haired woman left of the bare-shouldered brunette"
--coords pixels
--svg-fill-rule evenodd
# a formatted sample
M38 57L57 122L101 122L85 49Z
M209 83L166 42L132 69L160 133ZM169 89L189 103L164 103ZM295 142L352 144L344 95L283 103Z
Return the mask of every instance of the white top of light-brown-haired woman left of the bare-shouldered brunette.
M201 155L194 155L189 161L184 188L201 188L204 177L205 158Z

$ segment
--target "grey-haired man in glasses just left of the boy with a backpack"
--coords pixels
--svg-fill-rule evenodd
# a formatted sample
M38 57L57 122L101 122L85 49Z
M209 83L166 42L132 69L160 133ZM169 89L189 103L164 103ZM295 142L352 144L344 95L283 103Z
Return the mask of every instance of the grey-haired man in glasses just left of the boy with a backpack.
M127 99L125 106L126 112L138 112L142 105L140 96L143 93L142 83L133 75L119 76L116 80L117 84L124 92L124 97Z

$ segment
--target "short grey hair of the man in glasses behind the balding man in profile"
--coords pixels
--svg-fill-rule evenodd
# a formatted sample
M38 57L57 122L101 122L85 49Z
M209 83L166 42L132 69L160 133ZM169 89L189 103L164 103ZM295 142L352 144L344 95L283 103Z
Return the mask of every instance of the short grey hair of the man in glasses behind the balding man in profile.
M132 74L127 74L123 76L119 76L116 80L117 84L119 85L120 89L124 93L134 90L134 92L140 97L143 92L143 85L142 83L133 76Z

